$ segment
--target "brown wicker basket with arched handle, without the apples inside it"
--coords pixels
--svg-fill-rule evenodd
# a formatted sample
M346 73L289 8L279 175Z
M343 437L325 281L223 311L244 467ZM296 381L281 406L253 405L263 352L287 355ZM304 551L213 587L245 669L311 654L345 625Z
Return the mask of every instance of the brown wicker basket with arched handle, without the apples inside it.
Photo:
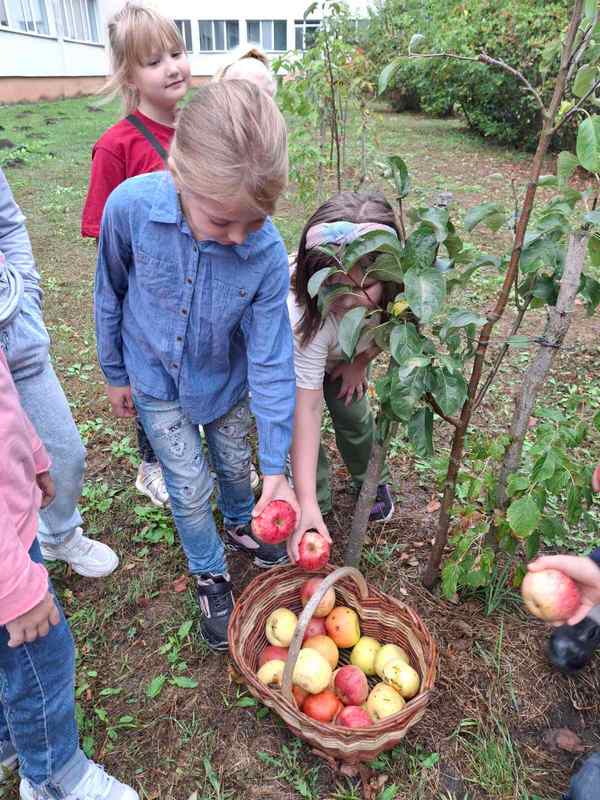
M353 567L326 566L318 575L327 575L319 590L302 611L300 587L307 578L298 567L277 567L255 578L238 599L229 622L229 652L250 692L275 711L296 736L308 742L325 758L357 765L391 750L417 723L431 698L435 681L437 648L423 622L404 603L367 586ZM353 608L360 617L361 632L381 642L393 642L410 655L412 666L421 678L420 693L398 714L368 728L343 728L318 722L301 713L291 692L292 671L302 646L304 630L326 590L335 584L336 604ZM294 639L283 675L281 690L264 686L256 678L258 657L268 645L265 623L276 608L285 606L299 615ZM349 651L340 651L340 661Z

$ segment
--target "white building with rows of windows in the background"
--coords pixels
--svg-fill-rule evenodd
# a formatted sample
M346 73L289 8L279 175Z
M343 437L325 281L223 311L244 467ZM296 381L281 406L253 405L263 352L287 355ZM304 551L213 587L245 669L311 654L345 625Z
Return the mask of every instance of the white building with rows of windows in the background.
M271 56L310 46L309 0L154 0L181 31L197 79L229 62L228 51L257 42ZM0 0L0 102L90 94L108 71L106 22L123 0ZM353 0L357 17L367 0ZM216 10L218 9L218 11ZM216 19L216 17L219 19Z

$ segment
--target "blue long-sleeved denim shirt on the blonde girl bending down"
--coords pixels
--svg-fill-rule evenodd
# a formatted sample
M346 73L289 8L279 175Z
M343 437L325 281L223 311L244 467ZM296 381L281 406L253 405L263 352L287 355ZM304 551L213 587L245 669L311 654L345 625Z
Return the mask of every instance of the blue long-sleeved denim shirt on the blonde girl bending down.
M196 241L168 172L105 206L95 285L98 358L113 386L179 399L194 424L251 392L265 475L283 473L295 403L288 259L270 219L242 245Z

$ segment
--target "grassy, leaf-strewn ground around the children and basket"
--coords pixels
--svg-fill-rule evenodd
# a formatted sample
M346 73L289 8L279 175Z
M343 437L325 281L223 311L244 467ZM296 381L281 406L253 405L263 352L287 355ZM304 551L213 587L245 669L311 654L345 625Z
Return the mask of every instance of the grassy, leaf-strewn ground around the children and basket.
M119 570L105 580L85 580L64 565L52 567L78 646L77 697L86 751L145 800L359 798L356 780L334 774L313 756L230 680L227 658L203 645L170 517L133 488L135 436L130 423L111 417L95 358L95 245L79 236L91 146L117 118L114 104L98 109L89 98L0 110L0 163L28 218L54 364L88 447L82 498L86 531L108 542L121 558ZM527 175L526 154L473 137L459 120L398 116L379 108L371 125L373 163L382 153L402 155L424 199L451 191L462 206L492 199L512 203L510 181L521 185ZM351 186L350 170L347 179ZM292 187L276 220L290 248L305 217ZM476 241L498 251L498 239L485 232ZM471 294L482 309L497 286L491 271L478 280ZM535 312L528 330L539 332L541 324L543 314ZM499 335L507 329L508 323ZM544 404L561 406L575 395L584 418L598 410L599 333L598 318L588 319L578 308ZM481 431L505 429L511 393L527 358L528 351L517 350L502 369L478 415ZM332 561L341 563L353 500L327 424L324 436L335 485L335 512L328 519L335 541ZM448 428L439 426L439 453L447 451L448 441ZM590 458L597 456L597 437L590 434L586 446ZM396 513L369 531L361 568L369 582L421 615L440 657L423 720L401 746L372 765L379 775L373 796L553 800L582 754L600 745L599 664L575 679L553 673L544 654L548 631L523 612L510 590L500 598L482 593L457 604L425 591L419 572L428 556L438 497L432 464L415 458L402 437L393 443L390 463ZM596 511L592 508L592 522ZM573 530L562 545L591 546L598 538L594 527ZM231 567L238 590L256 574L241 556L231 559ZM557 743L553 732L560 728L578 738ZM15 786L9 781L0 796L14 796Z

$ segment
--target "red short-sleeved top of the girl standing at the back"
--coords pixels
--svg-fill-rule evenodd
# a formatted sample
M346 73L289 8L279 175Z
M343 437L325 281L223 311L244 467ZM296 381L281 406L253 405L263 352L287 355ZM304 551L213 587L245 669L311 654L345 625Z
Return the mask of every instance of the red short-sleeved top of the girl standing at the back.
M135 114L168 150L175 128L155 122L139 111ZM81 235L94 239L100 236L100 220L108 195L120 183L161 169L165 169L162 158L131 122L122 119L109 128L92 150L92 173L81 216Z

